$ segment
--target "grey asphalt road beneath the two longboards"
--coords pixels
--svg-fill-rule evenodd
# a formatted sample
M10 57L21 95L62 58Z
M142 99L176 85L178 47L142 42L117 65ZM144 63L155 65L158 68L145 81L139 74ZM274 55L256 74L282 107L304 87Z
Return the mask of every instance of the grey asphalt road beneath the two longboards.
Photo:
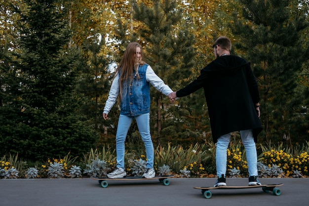
M307 206L309 178L260 178L278 187L280 196L262 188L211 190L205 199L193 187L213 186L215 178L171 178L168 186L157 179L110 181L102 188L97 180L0 179L0 206ZM247 185L247 178L227 178L228 186Z

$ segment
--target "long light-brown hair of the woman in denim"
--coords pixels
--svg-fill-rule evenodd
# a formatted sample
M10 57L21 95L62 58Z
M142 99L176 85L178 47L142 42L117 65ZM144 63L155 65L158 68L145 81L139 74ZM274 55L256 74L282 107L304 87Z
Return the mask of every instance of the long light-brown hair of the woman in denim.
M136 48L140 47L141 57L140 59L136 58ZM120 98L122 97L122 87L123 85L128 85L129 82L133 80L134 70L136 70L138 75L138 66L144 65L144 56L142 52L142 46L137 42L131 42L126 47L124 54L121 58L121 61L116 69L116 75L120 74L119 78L119 89L120 89ZM127 88L125 88L127 89Z

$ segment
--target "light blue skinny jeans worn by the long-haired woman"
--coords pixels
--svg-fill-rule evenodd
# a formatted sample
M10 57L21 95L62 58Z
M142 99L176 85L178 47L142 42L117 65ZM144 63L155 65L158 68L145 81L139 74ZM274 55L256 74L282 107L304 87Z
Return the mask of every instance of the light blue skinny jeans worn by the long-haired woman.
M118 120L118 127L116 133L116 154L117 154L117 167L124 168L124 142L132 120L135 119L138 130L142 136L145 144L147 155L147 168L154 167L154 144L150 135L150 114L142 114L138 116L125 116L120 115Z

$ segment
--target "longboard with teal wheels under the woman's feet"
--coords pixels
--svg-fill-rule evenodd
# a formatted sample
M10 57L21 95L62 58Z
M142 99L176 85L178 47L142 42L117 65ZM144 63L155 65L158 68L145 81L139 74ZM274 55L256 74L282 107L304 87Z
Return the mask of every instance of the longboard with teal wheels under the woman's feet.
M91 177L92 179L98 180L99 184L106 188L108 187L109 183L108 181L138 181L138 180L151 180L151 179L158 179L161 183L164 185L169 185L169 179L172 178L175 175L167 175L167 176L154 176L152 178L143 178L142 176L126 176L123 178L107 178L107 177Z

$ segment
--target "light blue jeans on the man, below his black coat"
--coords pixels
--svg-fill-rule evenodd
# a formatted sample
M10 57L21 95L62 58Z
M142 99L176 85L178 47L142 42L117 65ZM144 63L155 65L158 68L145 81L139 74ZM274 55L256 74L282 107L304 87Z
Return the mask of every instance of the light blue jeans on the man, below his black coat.
M227 149L230 143L231 133L224 134L218 138L216 145L216 167L217 175L226 175L227 172ZM253 139L252 129L240 131L241 141L246 150L249 176L258 176L257 151Z

